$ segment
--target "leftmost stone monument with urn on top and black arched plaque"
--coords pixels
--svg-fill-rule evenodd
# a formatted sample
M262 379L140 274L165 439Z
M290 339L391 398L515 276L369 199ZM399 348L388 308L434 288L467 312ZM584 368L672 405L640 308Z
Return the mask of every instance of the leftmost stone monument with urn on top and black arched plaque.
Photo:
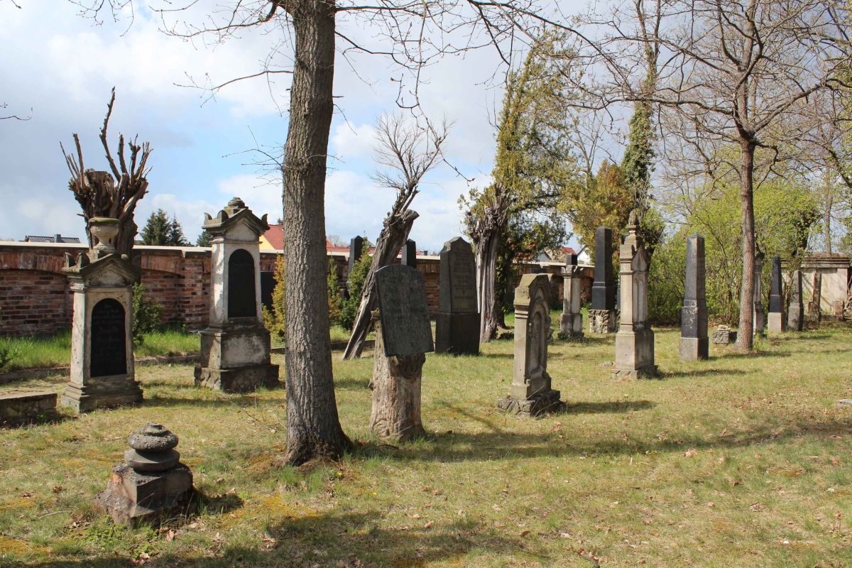
M60 404L78 412L135 404L142 389L133 362L133 284L139 269L118 255L113 239L118 219L89 219L95 245L65 255L62 269L71 282L74 315L71 332L71 379Z

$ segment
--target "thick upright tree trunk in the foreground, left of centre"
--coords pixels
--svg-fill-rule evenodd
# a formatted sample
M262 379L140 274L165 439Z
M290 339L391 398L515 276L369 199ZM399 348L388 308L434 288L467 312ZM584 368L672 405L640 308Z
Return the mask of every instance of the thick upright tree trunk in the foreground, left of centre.
M331 129L333 0L293 3L295 65L285 146L287 455L298 465L351 445L337 417L325 273L325 163Z

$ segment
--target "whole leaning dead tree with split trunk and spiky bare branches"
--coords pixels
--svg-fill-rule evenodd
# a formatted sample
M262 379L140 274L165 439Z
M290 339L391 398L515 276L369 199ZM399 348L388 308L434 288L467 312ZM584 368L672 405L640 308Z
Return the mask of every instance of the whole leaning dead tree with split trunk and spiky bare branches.
M440 160L440 146L446 140L448 129L446 122L437 129L429 123L421 127L407 122L399 115L383 116L378 120L376 156L378 163L388 170L377 171L372 179L379 186L393 189L396 199L376 239L376 252L364 279L358 315L355 316L352 335L343 351L343 359L360 357L370 332L371 313L377 307L375 273L393 262L405 244L418 216L417 211L410 209L412 200L420 191L423 176Z

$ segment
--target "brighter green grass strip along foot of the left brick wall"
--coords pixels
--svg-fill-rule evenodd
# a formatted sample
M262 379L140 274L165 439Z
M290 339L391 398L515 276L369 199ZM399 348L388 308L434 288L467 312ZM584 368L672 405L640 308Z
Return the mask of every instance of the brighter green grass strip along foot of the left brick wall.
M47 338L0 336L0 351L4 349L12 354L12 359L9 364L0 369L3 371L67 365L71 359L71 331L60 331ZM142 345L134 348L136 357L198 352L199 336L176 330L146 334Z

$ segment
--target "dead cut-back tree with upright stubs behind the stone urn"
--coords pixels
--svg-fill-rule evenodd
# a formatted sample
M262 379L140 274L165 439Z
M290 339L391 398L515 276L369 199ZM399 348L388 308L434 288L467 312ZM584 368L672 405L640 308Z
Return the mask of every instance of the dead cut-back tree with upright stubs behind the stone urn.
M92 236L89 234L89 220L92 217L111 217L118 219L118 237L116 237L116 250L120 255L129 255L133 249L133 239L136 236L136 227L133 221L133 213L139 200L145 197L148 191L146 176L150 168L146 168L148 156L151 155L151 145L148 142L138 144L135 136L130 147L130 169L124 157L124 135L118 135L118 164L112 158L109 144L107 143L107 126L112 115L112 105L115 103L115 87L112 88L112 97L107 105L107 117L101 127L101 145L107 152L107 163L110 171L96 171L85 169L83 165L83 149L80 146L80 138L74 133L74 146L77 147L77 157L69 155L60 142L62 155L65 156L68 169L71 170L71 180L68 181L68 189L74 193L74 198L83 209L79 214L86 221L86 237L89 238L89 246L92 246ZM118 182L116 182L118 180Z

